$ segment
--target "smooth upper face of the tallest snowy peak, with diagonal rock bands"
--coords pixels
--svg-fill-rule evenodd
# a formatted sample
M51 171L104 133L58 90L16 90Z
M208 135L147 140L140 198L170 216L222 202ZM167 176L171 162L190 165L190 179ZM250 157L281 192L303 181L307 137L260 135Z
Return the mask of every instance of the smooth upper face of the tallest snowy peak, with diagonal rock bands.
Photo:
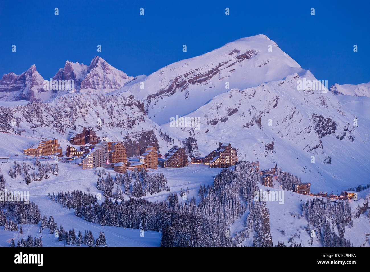
M227 84L230 88L245 89L301 70L274 41L257 35L172 63L147 77L134 78L114 93L132 93L145 102L148 116L162 124L225 93Z

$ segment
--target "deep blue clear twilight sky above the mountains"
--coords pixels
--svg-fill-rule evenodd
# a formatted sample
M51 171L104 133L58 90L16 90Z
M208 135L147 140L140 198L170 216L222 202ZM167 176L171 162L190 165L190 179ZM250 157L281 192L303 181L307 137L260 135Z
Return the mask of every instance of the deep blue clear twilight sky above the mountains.
M96 55L128 75L148 75L238 38L265 34L329 85L370 81L369 1L41 2L0 0L0 76L36 64L47 79L66 60L88 65Z

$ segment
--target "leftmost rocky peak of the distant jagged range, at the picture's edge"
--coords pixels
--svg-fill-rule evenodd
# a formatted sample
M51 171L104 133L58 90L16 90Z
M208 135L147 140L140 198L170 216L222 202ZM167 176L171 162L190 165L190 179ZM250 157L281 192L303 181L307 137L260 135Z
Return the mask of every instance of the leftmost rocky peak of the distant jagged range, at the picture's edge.
M33 64L27 71L16 75L13 72L4 74L0 80L0 100L39 101L53 97L53 91L43 89L44 78L37 72Z

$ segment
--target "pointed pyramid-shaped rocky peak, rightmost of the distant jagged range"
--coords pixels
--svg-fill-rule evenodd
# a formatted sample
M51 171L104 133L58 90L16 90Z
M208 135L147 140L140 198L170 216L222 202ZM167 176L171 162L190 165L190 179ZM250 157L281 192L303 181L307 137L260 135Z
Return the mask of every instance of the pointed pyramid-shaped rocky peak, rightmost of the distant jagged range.
M87 75L81 81L81 93L105 94L121 88L133 77L112 67L101 57L95 56L87 68Z

